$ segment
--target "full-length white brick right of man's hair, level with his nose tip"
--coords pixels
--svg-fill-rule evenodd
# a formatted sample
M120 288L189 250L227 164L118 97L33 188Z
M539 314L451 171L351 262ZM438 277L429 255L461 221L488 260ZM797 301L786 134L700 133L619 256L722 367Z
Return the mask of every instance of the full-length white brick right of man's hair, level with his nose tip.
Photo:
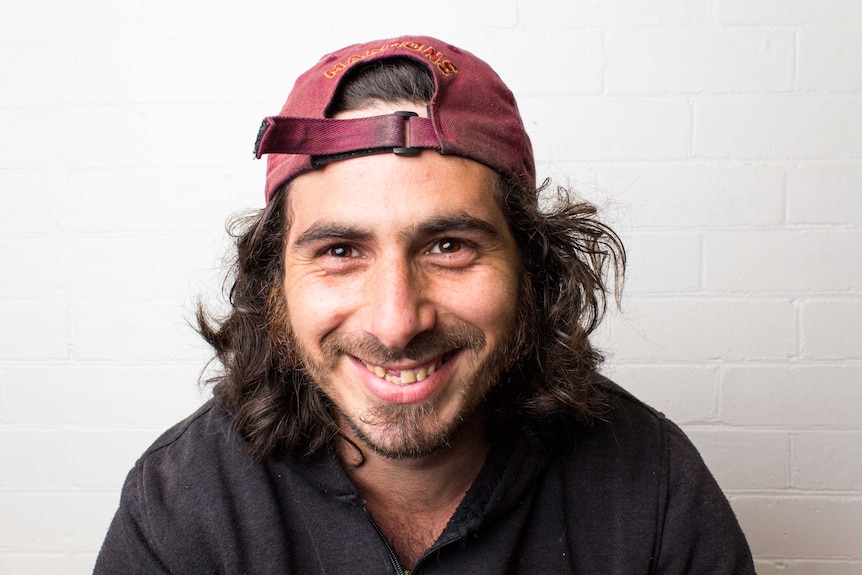
M795 353L795 311L784 300L631 298L615 318L622 361L750 361Z

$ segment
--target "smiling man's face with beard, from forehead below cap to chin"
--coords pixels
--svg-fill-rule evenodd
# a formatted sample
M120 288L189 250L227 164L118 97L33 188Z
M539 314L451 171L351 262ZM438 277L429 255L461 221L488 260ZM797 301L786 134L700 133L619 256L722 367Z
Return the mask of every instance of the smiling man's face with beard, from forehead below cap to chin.
M491 170L435 151L291 184L286 329L342 431L377 453L446 445L511 359L521 268L497 193Z

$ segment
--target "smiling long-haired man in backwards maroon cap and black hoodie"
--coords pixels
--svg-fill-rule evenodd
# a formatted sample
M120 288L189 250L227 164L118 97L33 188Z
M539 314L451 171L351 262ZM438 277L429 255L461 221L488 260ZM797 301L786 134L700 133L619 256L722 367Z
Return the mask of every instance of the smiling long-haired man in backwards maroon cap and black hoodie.
M753 573L684 435L596 372L624 252L538 207L515 100L433 38L301 76L256 154L214 400L138 461L97 573Z

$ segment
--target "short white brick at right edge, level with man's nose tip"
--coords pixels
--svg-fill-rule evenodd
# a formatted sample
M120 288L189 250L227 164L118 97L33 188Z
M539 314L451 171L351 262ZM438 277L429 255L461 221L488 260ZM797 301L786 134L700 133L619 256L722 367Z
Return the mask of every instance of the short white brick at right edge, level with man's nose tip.
M804 303L802 352L817 359L862 358L862 301Z

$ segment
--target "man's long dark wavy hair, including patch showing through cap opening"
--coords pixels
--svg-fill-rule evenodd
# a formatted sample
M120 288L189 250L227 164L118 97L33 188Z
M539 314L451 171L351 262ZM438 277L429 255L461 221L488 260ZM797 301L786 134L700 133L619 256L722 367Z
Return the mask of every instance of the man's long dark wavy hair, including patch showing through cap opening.
M377 62L343 81L329 110L373 102L425 104L433 79L407 59ZM499 178L499 201L520 250L524 277L519 301L517 355L489 394L492 422L518 421L541 430L601 413L596 384L601 353L589 336L612 294L619 295L625 250L599 221L595 206L563 188L554 197L546 181L528 189ZM285 334L284 241L289 225L283 186L262 210L234 219L236 255L230 311L222 317L198 305L198 330L222 369L207 381L235 430L259 458L310 457L334 447L333 406L305 373ZM539 197L546 199L540 207Z

